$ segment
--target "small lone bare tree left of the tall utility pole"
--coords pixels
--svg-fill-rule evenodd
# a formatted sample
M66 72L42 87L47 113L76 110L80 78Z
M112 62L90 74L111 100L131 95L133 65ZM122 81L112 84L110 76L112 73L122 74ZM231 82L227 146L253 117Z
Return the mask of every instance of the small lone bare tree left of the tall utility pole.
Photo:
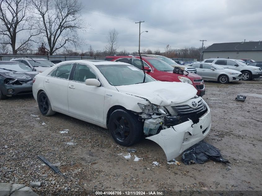
M106 52L111 55L116 53L118 49L118 32L115 28L110 29L107 36L108 44L105 46Z

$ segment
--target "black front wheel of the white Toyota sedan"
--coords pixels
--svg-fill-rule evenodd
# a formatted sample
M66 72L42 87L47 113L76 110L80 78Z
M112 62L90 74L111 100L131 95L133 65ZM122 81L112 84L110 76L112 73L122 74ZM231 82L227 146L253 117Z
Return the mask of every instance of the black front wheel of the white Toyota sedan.
M143 124L138 116L122 109L112 112L108 125L112 137L122 146L139 142L143 133Z

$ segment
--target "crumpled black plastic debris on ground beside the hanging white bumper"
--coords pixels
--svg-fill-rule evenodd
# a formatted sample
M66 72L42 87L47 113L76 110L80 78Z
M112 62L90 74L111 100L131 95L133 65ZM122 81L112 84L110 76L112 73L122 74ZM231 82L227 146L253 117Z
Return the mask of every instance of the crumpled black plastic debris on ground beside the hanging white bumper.
M190 163L204 163L210 159L221 163L229 163L229 160L221 157L220 150L204 141L191 146L182 155L182 161L186 165Z

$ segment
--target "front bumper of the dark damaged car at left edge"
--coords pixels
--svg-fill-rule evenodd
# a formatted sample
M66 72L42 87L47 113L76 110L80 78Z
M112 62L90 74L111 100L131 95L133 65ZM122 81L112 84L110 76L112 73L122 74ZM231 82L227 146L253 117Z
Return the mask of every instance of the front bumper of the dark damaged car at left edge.
M32 93L32 85L23 84L23 85L7 85L0 84L0 88L3 95L13 96L17 94L31 94ZM8 93L8 89L12 89L13 93Z

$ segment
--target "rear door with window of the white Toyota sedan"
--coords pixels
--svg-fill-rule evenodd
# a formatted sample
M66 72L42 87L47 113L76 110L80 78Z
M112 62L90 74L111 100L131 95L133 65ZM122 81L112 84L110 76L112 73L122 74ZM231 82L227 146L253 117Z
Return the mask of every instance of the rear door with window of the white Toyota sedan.
M68 112L68 83L74 63L60 65L44 79L44 88L53 107Z

